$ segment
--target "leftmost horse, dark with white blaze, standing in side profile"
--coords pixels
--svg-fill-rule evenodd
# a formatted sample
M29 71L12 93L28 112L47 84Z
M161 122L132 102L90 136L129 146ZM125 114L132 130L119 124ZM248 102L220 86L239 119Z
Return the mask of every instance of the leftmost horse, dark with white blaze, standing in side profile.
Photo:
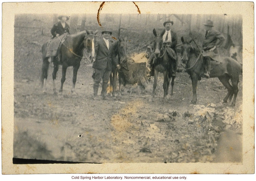
M80 61L83 57L83 49L86 48L88 52L91 51L93 53L92 43L94 42L94 36L95 34L97 34L97 32L98 31L95 31L93 33L92 31L84 30L76 34L68 35L66 40L62 43L62 46L59 52L60 62L57 61L56 59L53 60L54 70L52 72L52 82L53 82L54 94L57 94L55 80L56 80L57 71L59 69L59 65L62 65L61 87L60 87L59 93L62 94L63 83L66 80L67 67L73 66L73 86L71 89L71 93L76 94L75 85L77 81L77 71L80 67ZM42 74L40 78L44 93L46 90L45 83L46 83L48 68L49 68L48 58L45 57L46 51L47 51L46 46L47 46L47 43L45 43L42 46L43 66L42 66Z

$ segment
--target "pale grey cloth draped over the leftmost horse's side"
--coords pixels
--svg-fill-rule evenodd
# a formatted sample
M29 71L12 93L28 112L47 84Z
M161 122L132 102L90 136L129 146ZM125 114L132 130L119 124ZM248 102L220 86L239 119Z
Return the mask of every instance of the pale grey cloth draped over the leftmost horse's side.
M58 56L57 59L60 59L60 54L59 51L61 49L62 43L67 39L68 34L62 34L58 37L55 37L53 39L51 39L48 43L47 43L47 47L46 47L46 57L56 57Z

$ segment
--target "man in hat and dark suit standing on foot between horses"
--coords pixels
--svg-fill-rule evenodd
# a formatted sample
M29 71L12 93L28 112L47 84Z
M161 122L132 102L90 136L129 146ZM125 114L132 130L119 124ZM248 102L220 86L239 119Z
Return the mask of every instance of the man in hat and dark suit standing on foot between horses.
M113 43L109 40L111 31L105 30L101 32L103 37L95 42L94 57L92 58L92 68L95 70L93 84L93 99L99 100L98 89L102 79L103 99L106 99L107 86L109 76L112 70L112 64L118 67L118 62L115 59L113 52ZM92 55L93 56L93 55Z

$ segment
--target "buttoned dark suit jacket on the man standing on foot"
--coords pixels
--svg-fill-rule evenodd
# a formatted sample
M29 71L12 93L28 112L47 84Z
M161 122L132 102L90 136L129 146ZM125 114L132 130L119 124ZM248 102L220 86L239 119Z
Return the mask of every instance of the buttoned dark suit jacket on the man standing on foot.
M103 37L100 40L95 42L95 62L92 65L94 69L106 69L107 71L112 70L112 64L117 64L113 52L113 43L109 42L109 49L103 40Z

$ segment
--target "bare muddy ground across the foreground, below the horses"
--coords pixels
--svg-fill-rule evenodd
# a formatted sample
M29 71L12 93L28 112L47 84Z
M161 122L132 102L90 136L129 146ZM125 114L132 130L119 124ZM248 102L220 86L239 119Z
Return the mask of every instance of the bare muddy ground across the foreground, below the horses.
M153 102L149 102L152 84L147 92L128 85L122 97L92 100L92 69L85 64L78 71L78 95L71 95L71 68L67 70L63 95L53 95L51 72L52 68L47 94L39 88L38 78L15 78L15 158L86 163L219 162L218 140L224 130L241 137L241 120L223 120L235 114L239 114L236 119L241 118L242 82L236 106L217 108L212 105L219 105L226 90L217 79L202 79L197 88L198 108L190 105L192 85L185 72L177 73L175 80L187 85L175 83L174 96L169 95L167 101L162 99L160 75ZM60 78L61 68L57 88ZM206 111L197 115L199 109ZM228 118L225 111L230 112ZM216 112L220 112L220 118ZM241 148L235 151L240 154ZM235 161L240 161L239 154Z

